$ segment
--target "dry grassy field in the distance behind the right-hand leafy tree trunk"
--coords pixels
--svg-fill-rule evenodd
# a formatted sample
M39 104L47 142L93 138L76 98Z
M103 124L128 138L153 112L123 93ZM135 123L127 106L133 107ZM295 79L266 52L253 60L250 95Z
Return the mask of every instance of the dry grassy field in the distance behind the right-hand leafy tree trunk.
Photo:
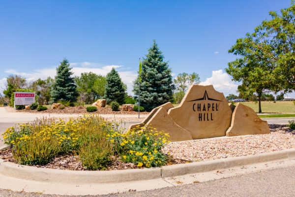
M258 113L258 102L241 102L254 109ZM295 113L295 105L293 101L262 101L262 113Z

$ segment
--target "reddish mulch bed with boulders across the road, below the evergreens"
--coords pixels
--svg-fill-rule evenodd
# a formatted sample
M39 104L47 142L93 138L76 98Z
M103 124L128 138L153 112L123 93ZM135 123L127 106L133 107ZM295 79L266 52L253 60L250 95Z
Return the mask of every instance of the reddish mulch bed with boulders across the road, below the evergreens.
M14 111L15 112L15 111ZM35 110L17 110L17 112L23 113L52 113L52 114L138 114L138 111L123 111L119 109L118 111L113 111L111 107L98 107L97 111L88 112L86 107L77 106L77 107L65 107L64 109L51 109L48 108L45 111ZM148 112L140 112L140 114L148 114Z

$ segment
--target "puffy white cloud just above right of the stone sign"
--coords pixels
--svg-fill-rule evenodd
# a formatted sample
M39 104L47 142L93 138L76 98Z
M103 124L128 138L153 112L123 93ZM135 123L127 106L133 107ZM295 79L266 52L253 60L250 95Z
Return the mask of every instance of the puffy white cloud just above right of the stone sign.
M222 70L213 70L212 77L207 78L206 81L201 82L199 85L213 85L214 89L222 92L225 97L229 94L236 94L237 91L237 85Z

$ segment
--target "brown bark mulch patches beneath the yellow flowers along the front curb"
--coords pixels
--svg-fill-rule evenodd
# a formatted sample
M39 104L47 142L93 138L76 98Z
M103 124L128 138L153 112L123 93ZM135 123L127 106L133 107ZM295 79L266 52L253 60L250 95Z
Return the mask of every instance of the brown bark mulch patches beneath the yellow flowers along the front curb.
M8 147L0 150L0 159L4 160L5 162L17 163ZM167 165L184 164L187 162L189 161L172 158L167 163ZM65 170L87 170L85 167L83 167L82 163L79 161L78 155L62 155L55 158L49 164L33 165L33 166L41 167L41 168L65 169ZM113 156L112 162L107 167L106 170L136 169L136 168L143 168L143 167L138 167L137 165L132 163L124 163L120 161L120 158Z

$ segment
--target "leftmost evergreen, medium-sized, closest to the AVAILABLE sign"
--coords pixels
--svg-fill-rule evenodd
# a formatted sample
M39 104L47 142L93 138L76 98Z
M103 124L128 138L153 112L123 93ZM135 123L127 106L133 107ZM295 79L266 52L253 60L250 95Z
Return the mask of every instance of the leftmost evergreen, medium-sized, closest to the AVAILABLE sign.
M51 89L51 102L57 102L58 100L70 101L71 103L77 100L79 93L75 80L71 75L70 64L68 60L64 59L57 68L57 75L55 76L55 82Z

